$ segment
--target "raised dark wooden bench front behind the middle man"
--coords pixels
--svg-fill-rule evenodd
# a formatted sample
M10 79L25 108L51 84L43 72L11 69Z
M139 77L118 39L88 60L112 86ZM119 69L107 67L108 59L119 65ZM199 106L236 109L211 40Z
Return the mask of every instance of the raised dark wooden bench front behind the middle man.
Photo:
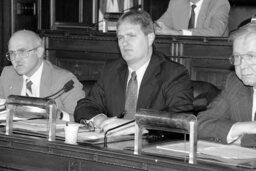
M81 33L42 30L46 57L72 71L80 80L99 78L107 60L120 58L115 33ZM157 36L155 49L183 64L192 80L211 82L222 88L227 74L232 43L228 38Z

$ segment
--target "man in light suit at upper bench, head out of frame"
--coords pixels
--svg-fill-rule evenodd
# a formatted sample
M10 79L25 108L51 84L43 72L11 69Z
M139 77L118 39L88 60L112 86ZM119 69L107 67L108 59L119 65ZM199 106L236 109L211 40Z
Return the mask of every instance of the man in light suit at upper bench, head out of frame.
M189 27L194 8L194 24ZM156 34L228 36L228 0L170 0L168 9L157 20Z

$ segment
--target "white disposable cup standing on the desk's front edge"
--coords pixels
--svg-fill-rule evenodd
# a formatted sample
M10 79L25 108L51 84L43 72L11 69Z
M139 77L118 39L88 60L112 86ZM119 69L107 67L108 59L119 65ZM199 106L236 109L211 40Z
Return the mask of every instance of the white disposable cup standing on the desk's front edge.
M80 124L78 123L66 123L65 131L65 143L67 144L77 144L77 135Z

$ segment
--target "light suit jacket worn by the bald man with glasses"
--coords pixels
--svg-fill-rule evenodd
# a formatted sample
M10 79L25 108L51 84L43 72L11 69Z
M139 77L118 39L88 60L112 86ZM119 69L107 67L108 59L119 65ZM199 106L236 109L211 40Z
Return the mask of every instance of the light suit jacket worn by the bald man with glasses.
M59 91L69 80L74 81L74 88L56 99L58 108L73 114L77 101L85 97L82 84L69 71L61 69L49 61L44 61L41 76L40 97L46 97ZM21 95L23 77L18 75L13 66L3 69L0 77L0 98L9 95Z

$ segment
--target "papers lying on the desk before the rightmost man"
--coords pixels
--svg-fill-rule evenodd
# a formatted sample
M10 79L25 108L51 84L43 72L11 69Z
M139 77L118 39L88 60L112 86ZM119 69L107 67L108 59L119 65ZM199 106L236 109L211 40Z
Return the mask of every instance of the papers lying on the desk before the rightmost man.
M256 150L244 148L238 145L225 145L209 141L198 141L197 145L198 160L222 163L247 168L256 168ZM189 142L171 142L157 145L155 150L150 147L143 149L149 153L186 157L189 153ZM182 155L185 154L185 155Z

